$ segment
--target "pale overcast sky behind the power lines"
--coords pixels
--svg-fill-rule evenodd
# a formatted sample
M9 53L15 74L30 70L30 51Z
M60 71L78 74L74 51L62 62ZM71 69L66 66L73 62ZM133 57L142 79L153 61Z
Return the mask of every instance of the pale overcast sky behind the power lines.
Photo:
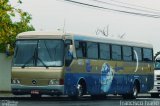
M109 26L108 33L110 38L119 39L119 35L125 34L124 40L151 43L154 46L155 53L160 51L160 18L82 6L65 2L64 0L22 0L23 3L21 5L17 5L17 0L10 1L16 8L21 8L32 15L31 24L37 31L60 30L102 36L96 35L97 29L106 29ZM160 0L99 0L106 3L100 3L94 0L74 1L143 14L148 14L146 11L150 11L149 14L151 14L152 11L152 15L153 12L160 15ZM121 6L145 10L145 12L122 8ZM140 6L143 8L140 8Z

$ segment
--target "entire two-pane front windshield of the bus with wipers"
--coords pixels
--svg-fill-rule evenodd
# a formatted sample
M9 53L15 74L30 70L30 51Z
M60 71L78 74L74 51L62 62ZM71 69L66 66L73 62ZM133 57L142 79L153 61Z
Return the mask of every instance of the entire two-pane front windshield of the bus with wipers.
M13 58L15 67L62 66L63 40L18 40Z

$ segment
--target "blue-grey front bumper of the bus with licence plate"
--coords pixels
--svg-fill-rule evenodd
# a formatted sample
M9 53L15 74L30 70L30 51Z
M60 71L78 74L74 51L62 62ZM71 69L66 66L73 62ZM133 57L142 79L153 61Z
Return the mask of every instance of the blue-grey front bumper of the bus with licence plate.
M11 84L12 93L15 95L40 94L40 95L62 95L64 94L64 85L47 86L26 86L20 84Z

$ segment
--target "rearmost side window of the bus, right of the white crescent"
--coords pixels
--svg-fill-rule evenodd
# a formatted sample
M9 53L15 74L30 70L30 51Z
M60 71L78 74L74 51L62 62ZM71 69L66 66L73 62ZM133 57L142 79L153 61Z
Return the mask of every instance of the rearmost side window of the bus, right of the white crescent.
M143 49L143 60L144 61L152 61L152 49Z

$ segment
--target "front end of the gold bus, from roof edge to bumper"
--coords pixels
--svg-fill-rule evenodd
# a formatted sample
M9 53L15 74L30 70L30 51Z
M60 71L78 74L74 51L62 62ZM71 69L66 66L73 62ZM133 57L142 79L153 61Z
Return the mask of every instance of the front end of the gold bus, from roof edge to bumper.
M25 32L17 36L11 89L32 97L64 93L64 40L61 34Z

